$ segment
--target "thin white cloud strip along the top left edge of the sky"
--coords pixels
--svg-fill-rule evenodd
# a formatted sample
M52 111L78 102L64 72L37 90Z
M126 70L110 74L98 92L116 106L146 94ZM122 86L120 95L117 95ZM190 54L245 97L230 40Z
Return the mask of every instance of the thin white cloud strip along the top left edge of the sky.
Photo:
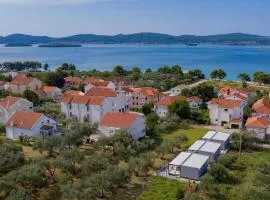
M35 4L35 5L76 5L113 0L0 0L0 4Z

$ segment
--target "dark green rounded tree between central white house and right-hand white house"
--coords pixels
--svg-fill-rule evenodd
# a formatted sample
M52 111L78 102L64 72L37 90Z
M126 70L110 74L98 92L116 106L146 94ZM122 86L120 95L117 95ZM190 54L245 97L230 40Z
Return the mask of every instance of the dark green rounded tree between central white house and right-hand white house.
M169 106L169 112L177 114L182 119L190 117L190 107L186 100L177 100Z

